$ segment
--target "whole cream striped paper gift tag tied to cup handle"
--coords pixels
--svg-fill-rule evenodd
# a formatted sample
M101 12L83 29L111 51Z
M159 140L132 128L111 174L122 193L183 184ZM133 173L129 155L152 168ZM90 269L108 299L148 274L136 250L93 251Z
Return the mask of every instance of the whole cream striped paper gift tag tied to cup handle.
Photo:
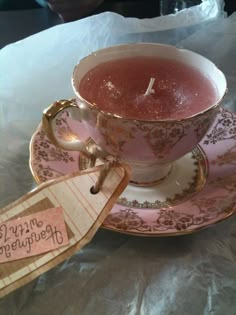
M97 194L103 166L38 186L0 209L0 297L53 268L87 244L129 182L111 168Z

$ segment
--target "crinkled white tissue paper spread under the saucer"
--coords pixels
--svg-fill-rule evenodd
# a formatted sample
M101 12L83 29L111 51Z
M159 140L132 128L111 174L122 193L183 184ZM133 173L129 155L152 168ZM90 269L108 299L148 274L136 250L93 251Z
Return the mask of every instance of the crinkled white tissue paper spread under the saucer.
M159 42L196 51L225 73L236 112L236 14L205 0L139 20L105 12L0 50L0 206L35 187L29 141L51 102L73 96L74 65L96 49ZM100 229L53 270L0 300L1 315L235 315L236 217L201 232L142 238Z

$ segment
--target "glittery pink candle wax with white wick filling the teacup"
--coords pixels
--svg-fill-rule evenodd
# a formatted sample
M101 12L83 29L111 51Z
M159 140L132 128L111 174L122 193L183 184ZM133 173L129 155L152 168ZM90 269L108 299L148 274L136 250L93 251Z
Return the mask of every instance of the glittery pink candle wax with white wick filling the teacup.
M84 75L78 90L104 112L139 120L180 120L204 111L218 97L197 68L154 56L102 62Z

